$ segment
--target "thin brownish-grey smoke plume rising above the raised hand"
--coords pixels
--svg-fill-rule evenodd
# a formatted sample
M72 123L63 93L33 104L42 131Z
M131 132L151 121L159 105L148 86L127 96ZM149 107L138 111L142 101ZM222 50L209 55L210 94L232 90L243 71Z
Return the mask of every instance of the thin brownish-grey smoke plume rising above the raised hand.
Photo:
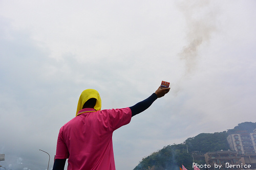
M183 77L177 82L174 92L181 90L180 84L185 78L193 74L199 60L199 50L203 43L209 42L216 29L217 7L214 1L182 1L178 4L181 13L185 16L185 39L187 43L178 54L185 62Z

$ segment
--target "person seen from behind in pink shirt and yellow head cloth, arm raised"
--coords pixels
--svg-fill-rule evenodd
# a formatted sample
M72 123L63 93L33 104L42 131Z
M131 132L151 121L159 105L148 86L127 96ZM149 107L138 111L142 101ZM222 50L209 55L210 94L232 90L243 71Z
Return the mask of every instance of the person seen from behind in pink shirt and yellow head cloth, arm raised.
M129 124L131 118L168 93L159 87L147 99L132 107L101 110L98 91L84 90L79 98L76 116L59 130L53 170L115 170L112 134Z

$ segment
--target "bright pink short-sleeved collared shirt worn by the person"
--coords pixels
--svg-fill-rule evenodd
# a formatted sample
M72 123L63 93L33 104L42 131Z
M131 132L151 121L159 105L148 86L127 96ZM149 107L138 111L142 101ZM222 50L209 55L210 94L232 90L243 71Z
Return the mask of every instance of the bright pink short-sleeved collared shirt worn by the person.
M68 158L68 170L115 170L112 134L130 123L131 109L86 108L78 114L60 128L55 158Z

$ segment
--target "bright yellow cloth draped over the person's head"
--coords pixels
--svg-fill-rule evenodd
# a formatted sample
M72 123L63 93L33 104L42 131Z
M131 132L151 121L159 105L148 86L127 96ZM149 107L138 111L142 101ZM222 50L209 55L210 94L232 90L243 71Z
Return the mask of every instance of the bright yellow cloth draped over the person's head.
M94 89L83 90L83 92L80 95L78 104L77 104L76 116L77 116L77 113L79 112L79 110L82 109L84 103L86 103L91 98L96 99L96 105L94 106L94 109L97 111L101 109L101 99L99 96L99 92Z

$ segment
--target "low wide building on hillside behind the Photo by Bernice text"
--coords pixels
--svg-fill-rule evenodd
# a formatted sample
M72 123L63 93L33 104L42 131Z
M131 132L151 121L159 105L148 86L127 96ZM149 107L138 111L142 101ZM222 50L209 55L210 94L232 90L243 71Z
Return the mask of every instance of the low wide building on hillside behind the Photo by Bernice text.
M208 165L208 170L213 169L243 169L241 165L241 156L237 151L217 151L207 152L205 162ZM235 166L233 166L235 165ZM240 166L239 166L240 165Z

